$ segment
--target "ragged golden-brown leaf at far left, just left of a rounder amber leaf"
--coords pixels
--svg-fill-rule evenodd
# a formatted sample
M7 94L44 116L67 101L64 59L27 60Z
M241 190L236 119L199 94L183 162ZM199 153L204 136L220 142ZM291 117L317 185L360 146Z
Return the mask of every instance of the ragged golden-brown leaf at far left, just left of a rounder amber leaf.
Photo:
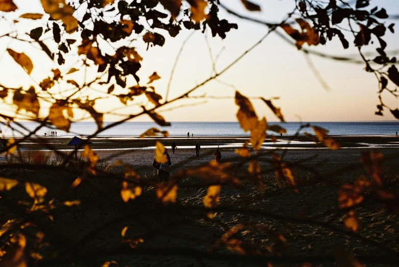
M28 91L23 91L21 88L16 89L13 103L17 105L17 111L24 109L35 114L36 117L39 115L40 104L33 86Z

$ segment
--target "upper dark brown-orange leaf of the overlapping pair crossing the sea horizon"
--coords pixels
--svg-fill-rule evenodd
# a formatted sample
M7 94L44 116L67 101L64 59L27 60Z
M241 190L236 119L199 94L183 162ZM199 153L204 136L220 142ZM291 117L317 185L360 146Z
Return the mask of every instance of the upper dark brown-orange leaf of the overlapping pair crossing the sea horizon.
M258 124L258 116L251 102L238 91L236 91L235 102L236 105L240 107L237 112L237 118L241 128L247 132L256 127Z

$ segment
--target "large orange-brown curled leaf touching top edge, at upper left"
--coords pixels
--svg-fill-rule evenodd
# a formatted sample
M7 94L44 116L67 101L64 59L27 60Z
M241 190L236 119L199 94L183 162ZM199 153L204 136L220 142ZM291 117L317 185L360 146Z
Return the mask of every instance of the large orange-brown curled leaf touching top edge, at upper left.
M62 20L67 33L78 30L78 20L73 17L74 9L65 0L40 0L44 12L55 20Z

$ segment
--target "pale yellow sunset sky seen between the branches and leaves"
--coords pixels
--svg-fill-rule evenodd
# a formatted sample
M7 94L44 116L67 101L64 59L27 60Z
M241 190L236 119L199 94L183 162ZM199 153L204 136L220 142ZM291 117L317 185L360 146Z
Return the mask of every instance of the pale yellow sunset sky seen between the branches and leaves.
M14 0L19 10L13 14L17 18L22 13L43 13L39 0ZM262 7L262 12L248 12L241 5L239 0L221 0L231 9L238 13L256 17L267 21L280 21L284 15L293 9L292 0L253 0ZM371 5L378 4L379 7L387 9L388 14L399 14L397 0L371 1ZM215 64L217 71L222 70L230 62L244 53L249 47L256 43L265 33L267 28L250 21L238 19L224 11L220 12L221 17L227 18L230 22L238 24L238 30L227 33L227 38L221 40L219 37L212 38L210 32L202 34L195 32L183 48L182 54L174 71L168 99L173 99L191 89L197 84L208 79L212 73L212 60L206 40L209 42L212 57L220 54ZM387 21L390 23L391 21ZM2 27L4 21L0 20L0 35L6 31ZM40 22L34 22L40 23ZM32 21L21 21L15 27L17 30L29 32L38 27ZM4 25L3 25L4 26ZM396 32L399 28L395 26ZM162 30L159 31L162 33ZM144 58L142 68L138 72L143 84L146 83L154 71L161 77L153 83L156 92L165 98L166 88L171 75L172 66L182 47L182 43L191 34L190 31L182 31L176 38L166 38L163 47L151 47L146 51L146 45L140 41L133 42L138 53ZM164 34L167 35L167 34ZM73 37L73 35L72 35ZM353 38L348 36L348 41L353 43ZM398 35L386 33L385 40L388 43L387 50L395 50L399 45ZM51 48L51 44L49 44ZM24 52L29 55L34 62L32 78L12 60L7 54L3 53L6 47L12 47L17 52ZM338 39L334 39L325 46L312 46L306 48L320 51L329 55L354 55L357 50L350 47L343 50ZM367 47L365 51L375 51L378 46ZM27 89L32 80L40 82L50 75L49 70L57 65L48 57L42 55L37 48L32 48L12 41L7 38L0 39L0 83L8 87L20 87ZM394 120L390 112L386 111L385 116L376 116L376 105L378 102L378 83L372 74L364 71L363 64L352 64L336 62L316 56L310 56L314 66L319 71L323 80L329 86L329 90L323 88L307 64L304 54L294 46L287 44L276 34L271 33L260 45L248 53L237 64L223 73L217 81L211 81L199 88L191 95L195 96L217 96L226 99L190 99L178 101L160 109L161 114L169 121L235 121L238 107L234 103L235 90L248 97L262 96L265 99L278 97L273 103L281 107L282 112L289 122L335 122L335 121L370 121L370 120ZM71 53L67 58L65 66L61 66L62 71L67 71L74 66L76 55ZM95 69L88 70L87 75L94 75ZM76 73L71 75L72 79L78 83L83 82L83 75ZM69 77L68 77L69 79ZM134 85L134 81L129 81L128 86ZM234 85L228 86L226 84ZM56 86L57 87L57 86ZM70 87L68 87L70 88ZM97 87L98 90L106 90L107 87ZM37 88L39 89L39 88ZM63 90L65 88L55 88ZM115 92L122 93L122 88L115 89ZM93 92L95 95L96 92ZM384 102L390 107L396 108L397 100L390 95L383 95ZM144 99L137 99L141 103ZM206 103L204 103L206 102ZM266 116L268 121L276 121L277 118L271 113L266 105L254 99L252 103L259 117ZM118 100L97 101L95 108L98 111L109 111L121 104ZM183 107L181 107L183 106ZM46 115L46 104L42 105L41 116ZM148 106L151 107L151 104ZM15 110L2 105L2 110ZM171 109L171 110L169 110ZM137 112L137 107L127 107L119 109L118 114L132 114ZM47 111L48 112L48 111ZM84 117L77 113L77 117ZM106 115L106 121L120 119L117 115ZM141 116L137 121L150 120L147 116Z

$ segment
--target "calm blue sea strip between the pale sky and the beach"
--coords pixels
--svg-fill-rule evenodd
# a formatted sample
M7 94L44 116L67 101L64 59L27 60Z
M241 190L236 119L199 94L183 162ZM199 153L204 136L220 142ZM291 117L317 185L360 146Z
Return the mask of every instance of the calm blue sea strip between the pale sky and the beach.
M37 123L21 123L23 127L33 130L38 124ZM104 123L107 126L111 123ZM288 135L293 135L300 127L300 123L270 123L279 124L287 130ZM395 132L399 132L399 122L345 122L345 123L310 123L312 125L320 126L328 129L330 135L395 135ZM0 129L5 133L6 136L21 136L26 134L27 130L13 124L13 127L18 131L12 131L10 127L0 125ZM127 122L109 130L100 133L100 136L137 136L145 132L147 129L157 127L160 130L166 130L171 136L187 136L187 132L190 132L190 136L193 133L195 136L244 136L249 135L245 133L236 122L175 122L172 123L171 127L159 127L155 123L144 123L144 122ZM57 130L57 136L87 136L94 133L97 126L94 122L78 122L73 123L69 133L61 130ZM51 135L51 131L55 129L42 128L37 131L36 135L44 136L44 133ZM312 132L310 128L304 129L302 132Z

